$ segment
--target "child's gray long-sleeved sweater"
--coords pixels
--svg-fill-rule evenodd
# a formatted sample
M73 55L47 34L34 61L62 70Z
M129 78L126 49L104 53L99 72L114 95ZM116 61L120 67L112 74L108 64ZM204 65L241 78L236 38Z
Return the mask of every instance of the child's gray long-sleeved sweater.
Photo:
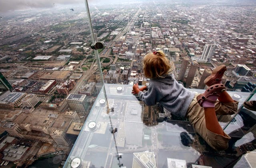
M164 108L178 117L185 117L195 93L184 88L171 74L164 78L150 79L148 91L138 93L140 100L152 106L159 102Z

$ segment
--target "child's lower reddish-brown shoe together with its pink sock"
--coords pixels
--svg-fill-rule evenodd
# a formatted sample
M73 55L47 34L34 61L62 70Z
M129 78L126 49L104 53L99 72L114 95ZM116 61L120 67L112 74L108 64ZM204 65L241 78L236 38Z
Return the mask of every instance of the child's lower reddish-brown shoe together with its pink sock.
M196 100L201 107L215 107L216 100L224 91L226 87L223 84L212 85L204 93L198 95Z

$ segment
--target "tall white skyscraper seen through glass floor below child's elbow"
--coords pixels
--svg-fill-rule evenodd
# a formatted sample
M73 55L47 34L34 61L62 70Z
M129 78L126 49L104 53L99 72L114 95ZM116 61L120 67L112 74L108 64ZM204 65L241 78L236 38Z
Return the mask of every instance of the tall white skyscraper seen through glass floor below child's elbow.
M143 104L139 104L137 101L126 103L124 128L127 144L142 145L143 106Z

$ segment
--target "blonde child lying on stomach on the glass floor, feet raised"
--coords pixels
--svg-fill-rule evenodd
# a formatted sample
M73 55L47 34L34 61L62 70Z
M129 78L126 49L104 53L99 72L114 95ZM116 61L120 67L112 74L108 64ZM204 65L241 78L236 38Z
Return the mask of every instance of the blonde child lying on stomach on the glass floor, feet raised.
M238 107L238 102L228 95L221 84L226 66L220 65L212 71L212 75L204 81L208 89L199 95L178 84L171 73L172 63L163 51L148 53L143 63L144 75L150 78L150 83L141 88L138 83L134 84L132 93L138 94L146 105L159 102L172 114L188 118L196 132L215 150L228 148L230 136L223 131L216 117L217 114L232 115Z

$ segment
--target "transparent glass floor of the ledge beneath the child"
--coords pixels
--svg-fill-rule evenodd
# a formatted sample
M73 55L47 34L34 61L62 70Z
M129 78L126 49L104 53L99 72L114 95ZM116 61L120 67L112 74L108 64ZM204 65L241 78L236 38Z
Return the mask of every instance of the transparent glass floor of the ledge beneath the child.
M218 152L194 132L190 122L164 113L160 105L146 106L132 95L132 85L105 84L104 87L107 99L101 89L65 168L167 168L172 162L214 167L237 162L244 153L255 149L255 143L251 143L255 141L254 134L246 134L243 130L249 124L244 120L255 123L255 112L241 108L242 115L219 117L225 132L232 136L233 144L230 149ZM239 107L250 95L243 92L229 94L240 102ZM256 100L254 96L252 99Z

